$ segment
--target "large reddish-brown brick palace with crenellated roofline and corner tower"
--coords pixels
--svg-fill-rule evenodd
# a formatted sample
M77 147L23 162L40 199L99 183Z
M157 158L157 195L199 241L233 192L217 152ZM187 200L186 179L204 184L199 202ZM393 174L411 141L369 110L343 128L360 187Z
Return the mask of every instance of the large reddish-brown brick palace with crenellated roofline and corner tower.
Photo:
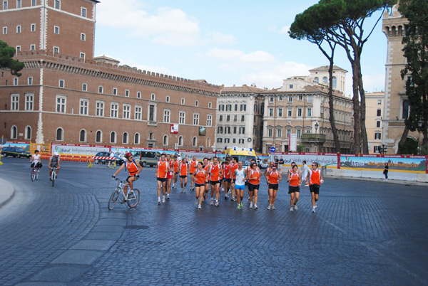
M1 70L0 135L37 143L212 149L220 87L94 59L98 1L3 2L1 41L19 50L15 58L25 68L20 78Z

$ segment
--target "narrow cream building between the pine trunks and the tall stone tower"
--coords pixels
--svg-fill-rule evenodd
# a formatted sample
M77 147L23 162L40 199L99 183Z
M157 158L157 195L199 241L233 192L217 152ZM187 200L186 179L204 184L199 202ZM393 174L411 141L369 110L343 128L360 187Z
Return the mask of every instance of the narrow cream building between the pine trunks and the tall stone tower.
M366 131L369 154L381 154L382 149L382 113L384 110L384 92L366 93Z

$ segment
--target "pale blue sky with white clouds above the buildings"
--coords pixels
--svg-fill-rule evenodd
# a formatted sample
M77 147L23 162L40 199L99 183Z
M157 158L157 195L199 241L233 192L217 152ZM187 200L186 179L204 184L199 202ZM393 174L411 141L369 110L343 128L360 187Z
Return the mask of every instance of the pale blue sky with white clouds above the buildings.
M315 44L287 33L295 15L317 2L100 0L95 56L214 85L280 88L286 78L309 75L311 68L328 65ZM379 11L367 19L366 35L380 15ZM367 92L384 90L386 59L381 20L362 52ZM346 95L350 95L352 70L342 48L335 65L348 71Z

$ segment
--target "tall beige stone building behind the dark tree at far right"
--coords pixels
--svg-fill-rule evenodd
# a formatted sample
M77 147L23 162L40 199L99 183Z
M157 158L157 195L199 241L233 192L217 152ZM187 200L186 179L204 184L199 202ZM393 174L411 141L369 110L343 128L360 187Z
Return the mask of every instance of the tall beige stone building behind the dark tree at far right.
M382 144L387 147L387 154L396 154L398 143L404 131L404 120L409 116L409 102L406 95L406 80L402 79L401 70L406 65L402 49L402 38L405 33L407 19L397 10L395 5L391 11L385 11L382 29L387 36L387 63L385 78L385 99L383 110ZM408 137L418 139L417 132L409 132Z

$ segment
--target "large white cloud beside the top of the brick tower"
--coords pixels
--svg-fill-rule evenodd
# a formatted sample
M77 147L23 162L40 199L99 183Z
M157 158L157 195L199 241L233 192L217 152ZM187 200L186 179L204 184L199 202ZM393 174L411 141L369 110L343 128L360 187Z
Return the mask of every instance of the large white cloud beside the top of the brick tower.
M136 0L121 1L121 5L116 0L103 0L97 6L97 25L120 28L128 31L128 36L171 46L235 43L232 35L201 33L199 22L180 9L162 7L149 14L143 8L141 1Z

